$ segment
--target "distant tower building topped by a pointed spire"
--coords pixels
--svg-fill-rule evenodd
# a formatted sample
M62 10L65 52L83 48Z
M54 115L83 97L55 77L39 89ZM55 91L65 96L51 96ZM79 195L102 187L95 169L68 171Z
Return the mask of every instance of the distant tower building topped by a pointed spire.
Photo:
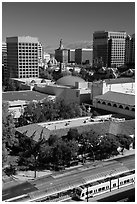
M62 40L60 40L59 48L55 50L55 59L60 63L68 63L68 49L64 49Z

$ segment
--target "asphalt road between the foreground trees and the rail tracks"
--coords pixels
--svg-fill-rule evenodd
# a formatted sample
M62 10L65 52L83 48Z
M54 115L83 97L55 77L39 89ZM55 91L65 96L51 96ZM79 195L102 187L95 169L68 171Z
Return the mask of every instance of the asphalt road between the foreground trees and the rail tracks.
M123 162L122 162L123 159ZM98 178L103 173L112 172L117 168L126 168L125 166L135 166L135 155L127 156L126 159L119 158L112 161L104 163L104 166L93 167L92 165L84 165L81 168L77 168L74 171L67 171L64 174L56 174L55 178L53 176L46 176L38 178L34 181L25 182L23 184L9 187L2 191L2 200L6 200L12 197L29 193L31 197L37 197L38 195L45 194L46 192L52 192L58 189L65 189L70 186L71 189L74 188L75 184L81 184L87 180Z

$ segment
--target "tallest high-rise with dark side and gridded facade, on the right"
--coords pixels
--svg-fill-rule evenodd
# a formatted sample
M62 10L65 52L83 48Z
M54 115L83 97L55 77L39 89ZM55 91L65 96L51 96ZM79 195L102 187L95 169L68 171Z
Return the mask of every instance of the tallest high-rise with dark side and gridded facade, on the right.
M126 32L97 31L93 33L93 64L101 59L103 66L119 67L125 62Z

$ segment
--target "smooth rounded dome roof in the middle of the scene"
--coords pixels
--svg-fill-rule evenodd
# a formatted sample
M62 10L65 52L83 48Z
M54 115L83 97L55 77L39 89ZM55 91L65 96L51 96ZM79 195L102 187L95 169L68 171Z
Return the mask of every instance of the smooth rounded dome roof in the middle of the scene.
M75 82L85 82L85 80L75 76L64 76L58 79L56 84L63 86L75 86Z

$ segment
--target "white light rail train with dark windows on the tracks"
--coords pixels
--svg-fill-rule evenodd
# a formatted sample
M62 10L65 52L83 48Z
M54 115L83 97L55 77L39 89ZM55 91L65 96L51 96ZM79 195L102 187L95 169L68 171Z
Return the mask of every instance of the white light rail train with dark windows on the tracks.
M135 183L135 171L129 171L118 176L108 177L96 182L75 188L74 198L85 200L106 192L110 192Z

